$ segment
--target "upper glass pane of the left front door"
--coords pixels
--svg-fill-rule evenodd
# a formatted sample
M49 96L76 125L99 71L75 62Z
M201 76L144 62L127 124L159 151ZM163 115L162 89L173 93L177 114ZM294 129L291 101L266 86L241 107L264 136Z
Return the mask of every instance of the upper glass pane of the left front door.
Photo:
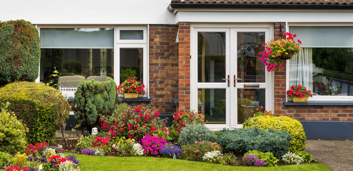
M197 33L197 81L224 83L226 78L226 33Z

